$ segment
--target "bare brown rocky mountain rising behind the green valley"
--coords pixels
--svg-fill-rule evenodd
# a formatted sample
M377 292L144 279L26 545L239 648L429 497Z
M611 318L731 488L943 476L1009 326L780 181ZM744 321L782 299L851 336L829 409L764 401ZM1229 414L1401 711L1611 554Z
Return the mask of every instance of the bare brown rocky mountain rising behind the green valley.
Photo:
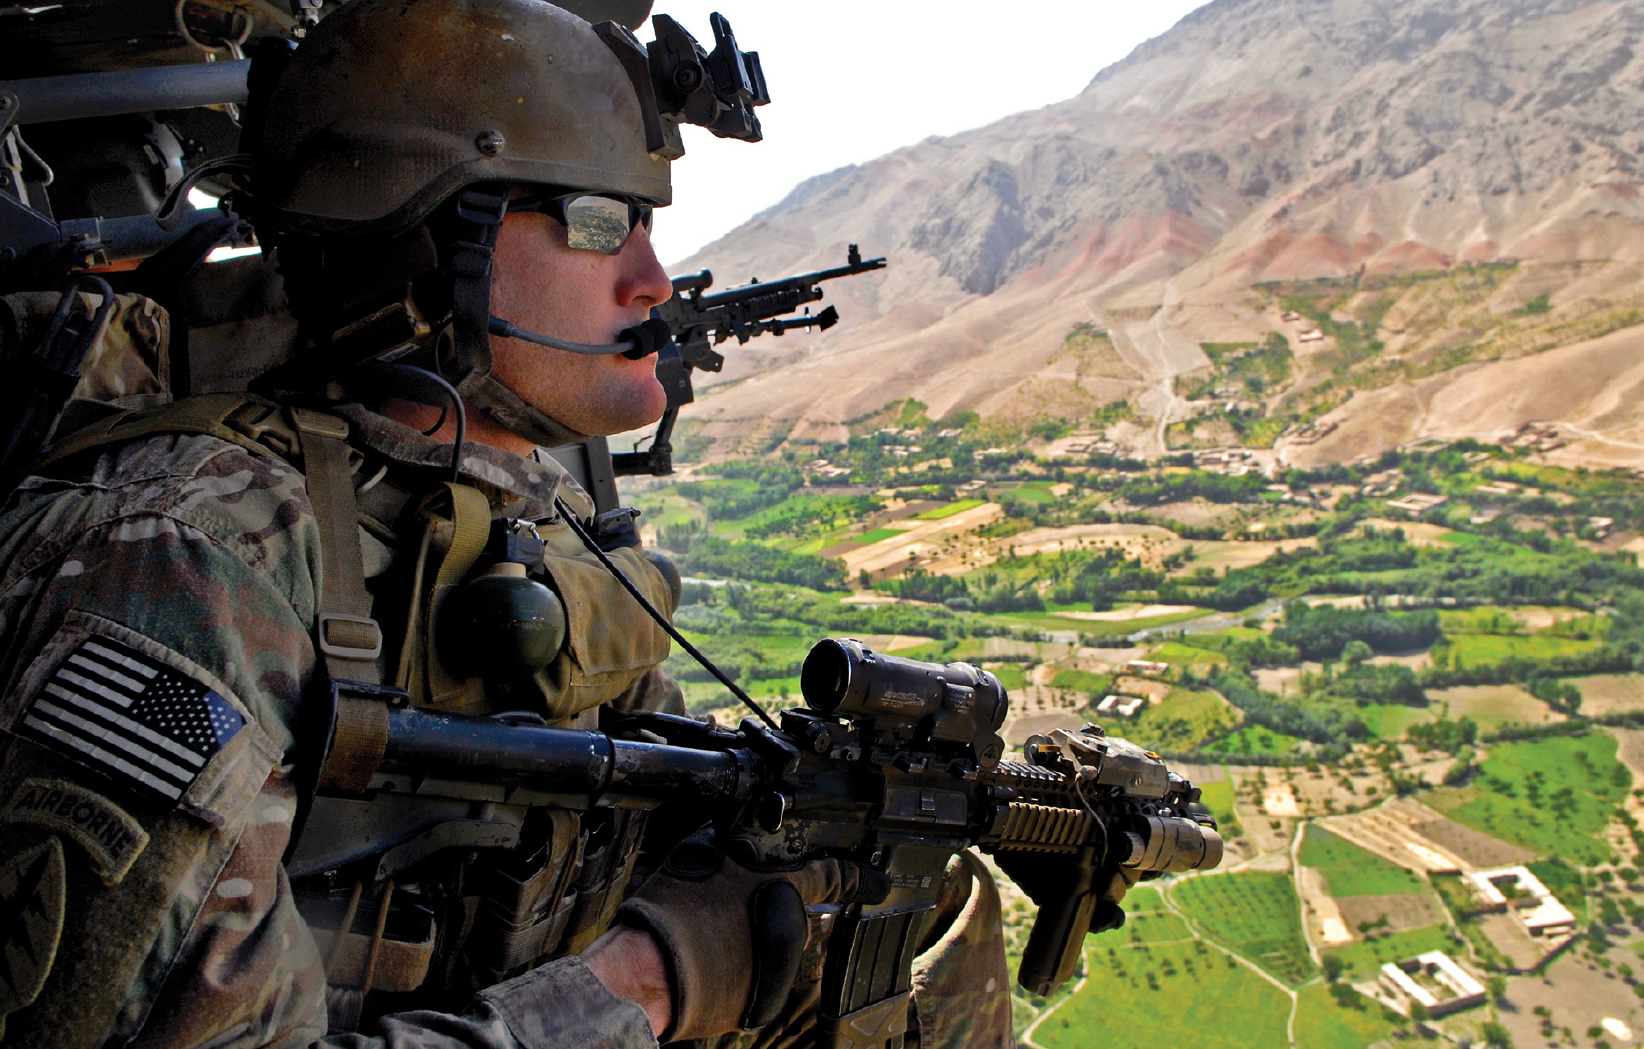
M687 418L834 441L909 396L1075 423L1128 398L1123 434L1157 452L1225 436L1184 400L1228 391L1203 344L1281 332L1287 373L1238 393L1338 424L1294 460L1526 421L1575 427L1567 455L1644 460L1614 437L1644 416L1598 404L1603 381L1522 388L1621 377L1644 349L1641 36L1639 0L1215 0L1074 99L807 179L686 260L891 258L829 286L825 335L730 354ZM1517 362L1554 347L1557 368ZM1429 411L1463 375L1471 408ZM1511 404L1478 396L1503 383Z

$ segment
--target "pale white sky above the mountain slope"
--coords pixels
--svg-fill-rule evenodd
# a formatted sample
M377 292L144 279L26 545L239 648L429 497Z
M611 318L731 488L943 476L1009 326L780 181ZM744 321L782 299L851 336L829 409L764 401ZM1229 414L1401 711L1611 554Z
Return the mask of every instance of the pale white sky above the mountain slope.
M1070 99L1200 3L656 0L709 49L709 13L725 15L741 46L760 53L771 89L758 110L761 143L684 128L656 253L672 268L804 178ZM651 36L649 25L640 30Z

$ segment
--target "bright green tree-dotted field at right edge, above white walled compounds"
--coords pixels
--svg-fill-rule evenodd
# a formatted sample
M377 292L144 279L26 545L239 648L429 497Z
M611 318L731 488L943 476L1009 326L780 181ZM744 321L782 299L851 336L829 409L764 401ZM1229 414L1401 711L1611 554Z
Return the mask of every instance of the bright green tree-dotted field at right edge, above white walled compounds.
M1583 865L1606 863L1605 827L1632 776L1603 732L1493 743L1465 788L1434 791L1429 804L1531 852Z

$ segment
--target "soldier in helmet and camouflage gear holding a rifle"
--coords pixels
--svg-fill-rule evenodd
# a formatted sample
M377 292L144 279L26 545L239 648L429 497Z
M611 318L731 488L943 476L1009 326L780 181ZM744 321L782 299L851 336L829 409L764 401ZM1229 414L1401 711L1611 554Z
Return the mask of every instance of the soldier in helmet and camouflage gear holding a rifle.
M0 520L7 1044L649 1046L769 1018L791 980L755 973L796 944L750 899L848 898L848 865L664 868L613 926L635 814L309 807L373 743L350 689L570 727L679 709L666 636L564 520L587 495L534 451L663 411L641 324L677 140L644 53L539 0L357 0L258 77L253 215L302 352L275 400L67 437ZM620 524L600 546L671 610ZM485 564L562 605L547 659L442 633ZM337 682L322 755L304 717ZM980 954L991 996L929 1044L1004 1044L998 896L965 863L921 1019Z

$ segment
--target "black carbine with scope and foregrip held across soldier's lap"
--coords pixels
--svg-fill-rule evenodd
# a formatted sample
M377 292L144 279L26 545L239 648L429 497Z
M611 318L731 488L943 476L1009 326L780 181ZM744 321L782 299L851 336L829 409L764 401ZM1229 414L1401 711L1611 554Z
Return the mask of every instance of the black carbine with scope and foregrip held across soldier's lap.
M1120 868L1148 876L1221 862L1198 791L1134 743L1087 725L1031 737L1023 761L1003 761L1009 700L977 666L824 640L801 691L809 705L783 710L779 728L648 714L630 722L630 738L342 695L309 824L358 825L349 807L406 796L464 814L460 802L492 814L687 806L746 866L837 857L875 868L888 893L843 908L824 962L820 1036L840 1049L901 1046L914 954L962 848L1014 853L1011 866L1028 855L1072 865L1072 888L1041 899L1023 954L1018 980L1039 995L1069 978L1087 932L1123 924L1108 896ZM296 868L314 853L299 842Z

